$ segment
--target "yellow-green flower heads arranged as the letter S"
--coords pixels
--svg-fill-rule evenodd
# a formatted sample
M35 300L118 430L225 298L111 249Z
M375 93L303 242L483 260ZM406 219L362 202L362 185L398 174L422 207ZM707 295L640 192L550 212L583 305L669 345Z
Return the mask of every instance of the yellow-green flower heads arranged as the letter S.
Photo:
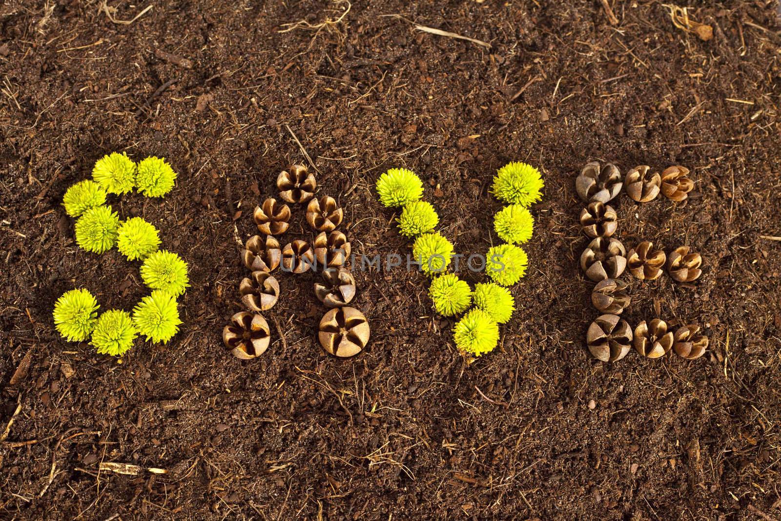
M127 194L137 187L147 197L162 197L173 188L177 173L164 160L148 157L134 163L127 154L112 153L95 163L92 180L83 180L66 191L62 205L76 217L76 242L87 252L104 253L115 245L128 260L140 260L141 279L152 293L141 299L133 314L119 309L98 316L98 302L85 289L66 291L54 307L54 322L67 341L91 337L99 354L123 355L138 334L147 340L168 342L182 323L177 296L189 287L187 262L179 255L159 250L159 231L141 217L120 222L106 205L108 194Z

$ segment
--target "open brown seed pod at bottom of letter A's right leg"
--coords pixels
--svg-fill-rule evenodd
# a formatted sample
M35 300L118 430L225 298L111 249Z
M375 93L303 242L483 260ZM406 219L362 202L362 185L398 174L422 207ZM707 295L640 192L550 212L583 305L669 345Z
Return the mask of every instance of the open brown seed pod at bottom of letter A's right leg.
M320 320L317 338L326 353L340 358L357 355L369 342L369 323L358 309L331 309Z

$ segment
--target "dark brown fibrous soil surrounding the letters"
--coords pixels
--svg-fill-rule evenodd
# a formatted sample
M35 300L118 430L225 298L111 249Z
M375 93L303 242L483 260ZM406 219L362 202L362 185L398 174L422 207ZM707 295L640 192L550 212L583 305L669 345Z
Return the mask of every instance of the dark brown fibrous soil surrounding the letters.
M126 21L152 5L130 24L105 2L0 5L0 518L781 519L781 242L761 237L781 235L777 3L694 7L710 41L660 2L608 3L615 26L597 0L378 0L339 22L346 2L109 2ZM408 251L373 194L383 170L430 181L470 253L496 241L497 167L540 166L530 273L496 351L458 354L419 273L356 269L372 341L355 359L319 348L311 274L281 277L265 355L226 354L237 241L306 162L292 134L369 256ZM59 205L114 150L180 172L165 200L111 202L155 223L192 282L180 334L121 363L51 318L76 286L102 309L146 294L137 263L77 248ZM703 358L608 365L584 348L573 179L590 159L692 170L683 204L616 205L627 247L703 255L693 287L632 280L625 313L700 323ZM296 216L288 237L308 236Z

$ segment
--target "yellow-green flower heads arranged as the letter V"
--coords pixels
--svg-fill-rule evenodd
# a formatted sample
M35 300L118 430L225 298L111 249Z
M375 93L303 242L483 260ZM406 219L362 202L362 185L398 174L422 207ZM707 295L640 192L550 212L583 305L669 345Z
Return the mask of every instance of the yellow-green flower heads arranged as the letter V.
M494 216L494 230L505 241L488 250L486 272L493 282L469 283L454 273L444 273L453 256L453 244L433 231L439 223L437 212L428 202L419 201L423 182L406 169L391 169L376 183L380 202L403 206L399 231L415 237L412 255L423 272L433 278L429 295L442 316L465 315L455 324L453 334L458 349L475 356L492 351L499 341L499 324L507 322L515 310L512 293L502 286L516 284L525 274L528 259L517 244L528 241L534 218L528 207L542 197L544 186L539 170L522 162L510 162L497 171L491 193L509 205ZM469 306L473 305L473 309Z

